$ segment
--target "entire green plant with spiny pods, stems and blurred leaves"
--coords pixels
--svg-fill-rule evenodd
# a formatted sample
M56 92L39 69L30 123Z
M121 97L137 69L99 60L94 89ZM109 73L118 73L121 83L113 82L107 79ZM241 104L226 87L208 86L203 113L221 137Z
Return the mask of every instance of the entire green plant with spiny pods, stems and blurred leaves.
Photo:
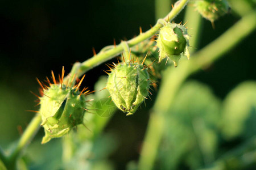
M239 109L235 110L239 112L238 115L243 115L242 118L238 119L229 115L230 112L233 112L232 108L234 107L234 102L229 99L229 96L223 104L222 114L214 114L221 109L221 104L208 87L197 82L184 82L189 75L216 61L255 30L255 9L251 7L250 10L249 6L249 10L246 12L238 11L237 13L241 14L241 19L236 24L216 40L210 42L209 45L195 52L195 49L188 49L188 46L197 46L197 40L200 37L199 20L201 16L198 16L196 12L189 12L191 8L187 10L186 19L189 23L186 26L190 28L189 24L192 25L194 29L192 37L188 36L187 30L183 26L169 23L188 2L188 0L177 1L165 18L159 19L154 27L144 33L141 32L137 37L129 41L123 41L119 45L106 46L94 57L82 63L76 62L67 76L64 77L63 71L59 83L56 83L54 74L52 75L54 84L50 84L49 87L45 87L44 84L39 82L44 89L44 96L40 97L40 114L36 114L10 154L0 150L0 168L15 169L18 167L22 169L26 167L26 160L22 151L30 143L40 125L44 126L46 132L43 143L67 133L69 135L69 138L64 138L62 142L63 166L61 168L113 168L112 165L106 162L106 157L114 150L115 137L112 137L111 134L102 135L102 131L110 120L110 115L116 111L116 107L126 112L127 115L134 114L139 105L147 98L147 95L150 95L150 92L148 92L150 84L156 84L155 81L158 80L159 75L163 77L162 84L152 107L141 156L138 164L131 162L128 168L153 169L159 164L162 169L170 167L171 169L177 169L180 168L179 163L184 163L191 169L232 169L254 165L255 159L243 161L242 157L249 155L250 158L255 158L255 133L246 133L244 138L250 138L249 142L242 143L240 147L233 151L234 154L232 155L226 154L217 159L215 152L217 150L218 134L222 134L224 138L229 139L238 137L243 131L247 130L246 127L243 127L245 121L249 116L255 115L255 103L251 102L255 101L255 82L242 84L236 90L230 92L231 96L247 104L243 104L244 109L241 109L241 112L246 114L241 114ZM230 4L232 3L233 1L230 1ZM222 10L222 13L223 11L225 10ZM217 17L208 19L213 22ZM159 30L156 44L151 39ZM171 40L167 40L168 42L166 41L166 35L171 37ZM169 42L171 43L169 44ZM159 49L155 47L156 45L160 49L160 53L158 53ZM180 56L189 58L188 50L192 53L191 61L180 59ZM110 65L108 80L106 78L99 80L95 87L95 94L86 97L81 95L83 92L88 94L85 88L79 91L84 77L82 77L80 83L74 86L76 78L93 69L93 67L121 54L123 54L119 58L121 63ZM172 63L167 61L164 64L155 62L155 60L161 61L168 57L174 61L175 67L180 59L179 67L174 68ZM118 83L120 81L123 84L119 87ZM106 91L105 94L100 94L99 91L102 88L106 88L109 92ZM239 92L243 94L245 91L247 95L244 98L241 95L236 95ZM195 92L200 92L201 95ZM188 97L187 94L189 94ZM106 105L100 105L102 108L99 108L98 103L103 101L104 103L110 103L108 99L105 100L109 95L112 96L116 107L112 103L107 107ZM95 102L90 102L90 99L94 99ZM191 105L193 105L195 111L189 110L189 108L192 108L190 103L193 103ZM109 110L109 116L102 118L106 109ZM89 112L94 114L89 114ZM224 121L218 122L222 118ZM85 119L86 122L84 122ZM238 128L234 128L235 131L229 129L232 127L233 121L237 122ZM89 133L89 130L84 126L80 126L83 122L92 133ZM76 127L79 129L77 133L71 130ZM188 138L191 138L191 141ZM106 146L102 145L102 141ZM164 142L172 143L172 146L164 148ZM90 157L90 152L93 152L94 156ZM183 158L184 155L185 158ZM196 159L197 157L198 159ZM239 161L234 164L236 160Z

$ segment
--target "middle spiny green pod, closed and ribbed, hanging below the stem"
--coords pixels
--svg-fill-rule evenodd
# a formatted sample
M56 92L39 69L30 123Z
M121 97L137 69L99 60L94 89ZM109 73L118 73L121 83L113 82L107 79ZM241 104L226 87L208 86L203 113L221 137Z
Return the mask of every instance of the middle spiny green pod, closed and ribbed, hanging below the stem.
M111 71L106 88L114 104L126 115L133 114L148 95L147 69L139 63L119 63Z

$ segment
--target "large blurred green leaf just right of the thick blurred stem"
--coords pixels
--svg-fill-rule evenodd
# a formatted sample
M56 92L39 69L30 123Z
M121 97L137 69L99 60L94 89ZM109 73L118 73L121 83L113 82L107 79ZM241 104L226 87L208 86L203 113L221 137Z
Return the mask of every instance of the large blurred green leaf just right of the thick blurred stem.
M159 157L162 169L195 169L214 160L219 108L220 101L204 84L189 82L181 87L166 117Z

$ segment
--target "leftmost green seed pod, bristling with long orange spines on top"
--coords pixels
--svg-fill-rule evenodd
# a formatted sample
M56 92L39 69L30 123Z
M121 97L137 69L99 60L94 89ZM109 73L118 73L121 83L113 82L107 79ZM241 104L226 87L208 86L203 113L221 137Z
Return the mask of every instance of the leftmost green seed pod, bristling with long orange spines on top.
M42 116L41 126L45 132L42 144L47 143L52 138L62 137L75 126L82 124L86 112L85 95L89 91L83 93L85 88L83 91L79 91L82 79L74 87L63 84L63 76L60 83L56 83L53 72L52 79L54 84L48 80L49 87L43 87L39 82L43 88L39 110Z

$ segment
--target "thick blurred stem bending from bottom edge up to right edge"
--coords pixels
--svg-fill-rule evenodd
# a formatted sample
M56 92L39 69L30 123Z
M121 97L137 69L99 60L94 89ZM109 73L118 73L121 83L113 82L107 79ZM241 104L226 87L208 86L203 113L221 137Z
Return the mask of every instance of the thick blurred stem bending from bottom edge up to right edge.
M209 65L228 52L228 50L234 48L238 42L253 32L255 28L256 11L244 16L233 27L229 28L228 31L195 53L191 57L191 61L181 61L182 63L176 69L168 68L165 71L162 86L148 122L148 129L146 131L138 169L152 169L158 146L164 133L165 116L166 114L170 114L168 111L172 101L184 80L192 73L195 73L195 71ZM165 100L163 101L162 99Z

